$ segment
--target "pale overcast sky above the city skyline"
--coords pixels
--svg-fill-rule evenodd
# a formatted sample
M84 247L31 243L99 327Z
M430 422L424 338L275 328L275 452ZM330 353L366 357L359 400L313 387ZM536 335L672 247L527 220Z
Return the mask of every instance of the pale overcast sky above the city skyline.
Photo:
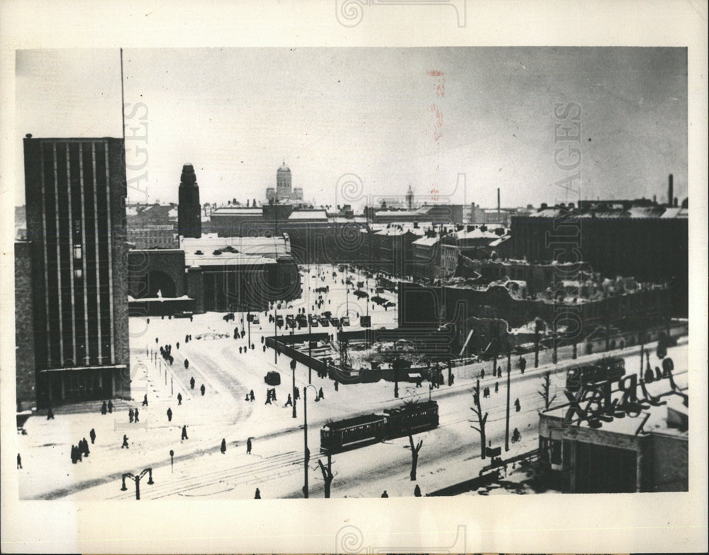
M573 201L554 185L574 173L554 163L566 146L554 105L571 102L581 198L664 200L669 173L687 195L685 49L152 49L123 61L126 135L147 129L126 141L128 164L147 159L128 169L134 202L177 201L186 163L202 202L262 200L284 160L323 204L342 202L345 173L362 179L362 205L410 184L421 202L436 188L440 202L493 207L498 187L503 206ZM19 51L16 68L18 142L121 136L118 50Z

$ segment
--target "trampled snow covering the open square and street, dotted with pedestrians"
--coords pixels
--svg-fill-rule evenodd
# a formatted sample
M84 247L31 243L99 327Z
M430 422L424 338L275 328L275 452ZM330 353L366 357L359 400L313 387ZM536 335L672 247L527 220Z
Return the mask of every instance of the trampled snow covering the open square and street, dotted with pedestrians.
M318 277L318 270L320 277ZM357 329L355 314L365 314L367 307L352 295L345 293L341 280L344 273L333 267L312 266L303 276L303 299L291 302L290 309L282 307L279 314L296 314L300 307L311 311L317 298L312 290L324 285L330 292L323 294L325 303L320 311L330 310L336 316L345 315L349 307L353 326ZM313 275L316 277L313 279ZM365 280L360 275L349 273L354 285ZM323 279L324 278L324 279ZM369 280L367 291L374 287ZM396 302L395 295L385 292L382 296ZM349 298L348 298L349 297ZM372 326L393 327L396 325L396 308L385 311L369 304ZM130 406L140 411L138 423L129 423L128 408L101 416L92 412L63 413L57 409L54 420L41 416L30 418L26 423L27 435L19 437L23 469L19 486L21 498L70 498L83 500L132 498L135 484L128 481L128 491L121 491L121 475L125 472L138 474L152 468L153 485L147 485L147 477L141 481L141 498L253 498L259 488L262 498L299 498L303 496L305 468L303 465L303 399L297 401L297 417L293 418L291 407L285 407L291 392L292 374L290 359L284 355L274 360L274 351L262 350L262 337L274 333L274 325L268 324L268 316L259 314L261 323L251 328L251 343L254 350L246 350L247 338L235 340L234 327L241 330L242 314L235 321L226 322L223 314L209 313L188 319L145 318L130 319L131 377L133 401ZM279 330L281 331L286 328ZM335 329L317 328L318 331ZM296 331L297 332L297 331ZM184 343L186 334L193 340ZM201 336L197 339L197 336ZM158 343L156 343L156 338ZM177 348L177 342L180 345ZM162 361L156 351L158 345L172 344L172 366ZM242 353L239 353L242 348ZM640 367L639 348L615 351L613 354L626 357L626 367L637 372ZM608 353L606 353L608 354ZM686 340L669 350L676 367L676 382L686 387L687 347ZM589 357L579 357L579 362ZM655 355L651 355L655 365ZM189 360L185 368L184 360ZM503 364L505 361L501 361ZM530 365L531 366L531 365ZM491 367L491 363L487 363ZM549 365L551 367L551 365ZM281 374L281 384L276 387L277 401L264 404L268 386L264 375L269 370ZM478 475L489 464L489 459L479 458L479 435L471 429L475 420L471 411L472 394L478 374L460 369L452 387L434 389L432 399L440 407L440 426L435 430L420 433L415 440L423 440L419 453L418 476L411 481L411 451L408 437L386 441L332 457L333 497L379 497L386 490L390 497L413 496L415 484L423 494L445 486L451 486ZM537 411L543 406L538 391L541 375L547 367L527 367L525 374L513 370L510 399L520 400L520 411L510 408L510 431L518 428L522 440L503 452L503 458L511 457L537 447ZM455 371L454 371L455 372ZM506 380L490 377L490 372L481 381L481 387L490 387L489 398L481 399L485 412L489 413L487 436L493 447L503 445L506 413ZM469 377L467 377L469 376ZM195 387L191 389L190 379ZM498 392L495 383L498 381ZM308 370L298 364L295 371L296 386L303 391L308 384ZM335 391L330 379L321 379L313 372L313 387L308 395L308 447L311 461L308 468L309 493L311 497L323 496L323 476L318 459L327 464L326 457L319 453L320 428L328 420L338 420L362 413L381 413L384 408L398 406L406 399L428 399L427 385L417 389L413 384L401 384L400 398L393 396L393 383L341 384ZM200 392L201 385L205 393ZM560 385L552 383L559 398ZM324 399L315 402L316 390L323 389ZM246 401L251 390L255 401ZM182 395L182 404L177 401ZM552 392L553 394L553 392ZM147 395L147 406L142 406ZM167 409L172 410L172 421L167 418ZM181 440L182 426L189 436ZM96 442L89 443L91 454L82 462L72 464L69 453L71 445L82 437L89 438L89 430L96 431ZM121 448L123 435L128 436L128 449ZM252 439L252 452L247 454L247 439ZM225 440L226 450L220 452ZM171 464L170 450L174 452ZM497 488L491 493L504 490Z

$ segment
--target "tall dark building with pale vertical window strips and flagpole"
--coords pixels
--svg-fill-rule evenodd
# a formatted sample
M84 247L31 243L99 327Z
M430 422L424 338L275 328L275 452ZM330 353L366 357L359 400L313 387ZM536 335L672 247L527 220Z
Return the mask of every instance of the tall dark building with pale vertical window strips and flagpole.
M38 407L130 396L123 151L24 139Z

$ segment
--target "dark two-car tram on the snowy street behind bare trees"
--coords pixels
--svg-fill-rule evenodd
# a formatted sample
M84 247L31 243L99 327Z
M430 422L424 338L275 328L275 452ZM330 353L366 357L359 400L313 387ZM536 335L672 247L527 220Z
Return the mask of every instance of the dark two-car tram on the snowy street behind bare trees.
M438 426L436 401L407 403L384 414L367 414L328 423L320 430L320 452L349 451Z

